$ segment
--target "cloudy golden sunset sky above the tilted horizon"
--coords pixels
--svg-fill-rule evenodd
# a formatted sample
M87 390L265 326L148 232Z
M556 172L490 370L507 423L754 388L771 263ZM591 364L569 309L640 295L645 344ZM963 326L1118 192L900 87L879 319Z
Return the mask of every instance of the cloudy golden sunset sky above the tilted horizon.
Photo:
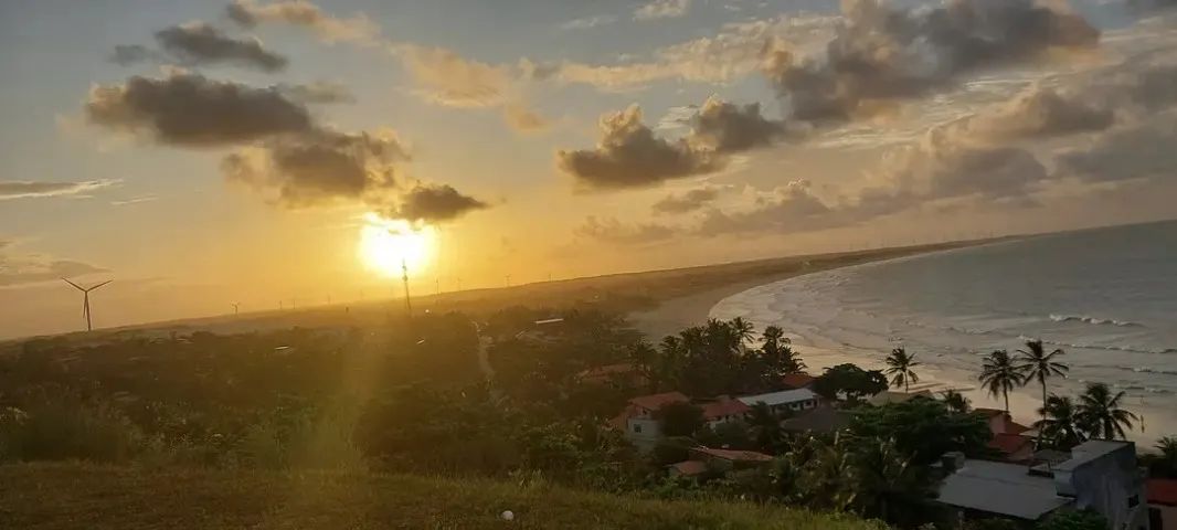
M1173 0L0 0L0 338L1136 223Z

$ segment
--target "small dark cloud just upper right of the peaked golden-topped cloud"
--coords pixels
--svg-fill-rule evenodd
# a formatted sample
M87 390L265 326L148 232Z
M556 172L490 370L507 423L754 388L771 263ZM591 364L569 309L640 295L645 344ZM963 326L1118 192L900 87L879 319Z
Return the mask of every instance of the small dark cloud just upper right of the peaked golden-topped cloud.
M711 97L691 120L692 145L719 153L772 145L785 137L784 121L760 115L760 104L736 105Z

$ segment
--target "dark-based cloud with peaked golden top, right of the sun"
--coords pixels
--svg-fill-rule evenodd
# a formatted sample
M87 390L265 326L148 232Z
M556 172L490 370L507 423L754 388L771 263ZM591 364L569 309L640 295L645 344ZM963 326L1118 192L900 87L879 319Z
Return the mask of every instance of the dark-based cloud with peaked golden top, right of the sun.
M685 140L656 137L641 122L637 105L605 114L599 127L596 148L557 152L559 168L591 188L650 186L723 167L714 153L696 151Z

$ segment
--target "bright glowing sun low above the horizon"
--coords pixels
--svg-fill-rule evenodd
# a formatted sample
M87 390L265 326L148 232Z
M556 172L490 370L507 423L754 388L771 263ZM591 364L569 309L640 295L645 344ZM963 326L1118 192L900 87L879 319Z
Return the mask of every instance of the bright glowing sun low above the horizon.
M413 227L405 220L385 219L372 212L364 214L359 257L365 266L380 274L400 276L401 264L410 272L426 269L433 244L430 226Z

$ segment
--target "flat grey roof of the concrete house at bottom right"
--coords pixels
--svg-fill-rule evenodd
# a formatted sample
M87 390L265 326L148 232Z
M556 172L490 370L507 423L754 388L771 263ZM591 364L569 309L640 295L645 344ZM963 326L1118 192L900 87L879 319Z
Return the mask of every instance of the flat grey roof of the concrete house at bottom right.
M944 477L937 501L1026 521L1037 521L1071 502L1058 496L1052 478L1032 476L1024 465L971 459Z

